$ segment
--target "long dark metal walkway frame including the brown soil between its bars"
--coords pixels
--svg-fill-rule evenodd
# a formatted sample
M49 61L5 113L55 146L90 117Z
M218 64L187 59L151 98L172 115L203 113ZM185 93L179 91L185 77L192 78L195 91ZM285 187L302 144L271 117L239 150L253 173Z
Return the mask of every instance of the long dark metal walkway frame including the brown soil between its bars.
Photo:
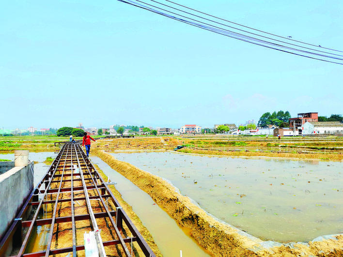
M44 225L50 226L45 243L29 247ZM100 257L155 256L80 145L65 143L1 239L0 256L12 238L14 256L85 256L83 237L90 231Z

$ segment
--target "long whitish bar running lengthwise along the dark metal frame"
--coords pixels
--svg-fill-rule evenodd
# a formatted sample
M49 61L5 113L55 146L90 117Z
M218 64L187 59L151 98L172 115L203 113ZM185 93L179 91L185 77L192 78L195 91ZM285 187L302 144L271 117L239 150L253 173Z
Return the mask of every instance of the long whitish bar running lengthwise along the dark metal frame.
M75 149L75 154L76 154L76 158L77 158L77 161L78 161L78 167L79 167L79 171L80 171L80 177L81 177L81 179L82 179L82 185L83 185L84 195L85 195L85 197L86 197L86 206L87 206L88 212L89 212L89 214L90 214L92 227L93 227L93 229L95 230L95 239L96 239L96 242L97 242L97 246L98 246L98 248L99 248L99 256L100 256L100 257L105 257L105 256L106 256L105 248L104 248L104 245L103 245L103 243L102 243L102 239L101 239L101 236L100 236L100 232L98 231L98 225L97 225L96 220L95 220L95 217L94 217L94 212L93 212L93 210L92 210L91 201L90 201L89 196L88 196L88 191L87 191L86 182L84 181L84 178L83 178L83 171L82 171L82 168L81 168L81 166L80 166L80 161L79 161L79 159L78 159L78 152L76 151L75 145L74 145L74 149Z

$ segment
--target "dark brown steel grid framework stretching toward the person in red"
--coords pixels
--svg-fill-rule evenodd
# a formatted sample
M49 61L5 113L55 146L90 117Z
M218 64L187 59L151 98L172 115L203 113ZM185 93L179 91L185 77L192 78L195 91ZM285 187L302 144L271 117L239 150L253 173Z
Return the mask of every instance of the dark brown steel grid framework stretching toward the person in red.
M78 184L82 183L82 186ZM75 185L77 184L77 185ZM67 185L67 186L66 186ZM94 196L89 196L88 191L92 191ZM84 195L82 197L76 197L74 194ZM65 198L65 195L70 194L70 197ZM60 197L60 196L64 197ZM48 199L50 198L50 200ZM101 205L101 210L105 212L94 212L94 205L92 206L91 200L97 200L96 202ZM111 200L112 205L109 204ZM85 201L87 207L87 213L75 215L75 202ZM68 208L71 210L69 216L59 216L57 208L59 204L67 203ZM53 206L51 218L38 218L39 213L42 210L47 210L47 205ZM69 206L70 205L70 206ZM30 207L37 206L33 217L30 220L24 221L23 218L27 216L27 212L31 210ZM112 209L112 210L110 210ZM108 228L114 232L115 238L109 241L102 241L100 236L99 227L96 219L106 218L108 222ZM62 253L72 253L72 256L78 256L78 251L84 250L84 245L77 244L77 230L85 228L77 228L76 222L88 220L90 227L88 230L95 232L95 238L98 246L99 256L106 256L105 246L117 245L120 247L120 252L127 257L132 255L132 242L137 242L141 252L147 257L155 257L155 254L145 242L140 232L133 225L123 208L120 206L117 199L110 191L108 184L101 178L96 171L92 163L86 157L84 151L82 151L78 143L65 143L59 151L56 159L49 167L44 178L35 186L31 195L24 203L22 209L17 214L12 225L7 230L7 233L1 239L0 242L0 256L3 256L8 244L11 243L11 239L18 244L20 250L17 256L25 257L39 257L49 255L56 255ZM72 242L70 247L51 249L52 239L54 233L59 233L54 228L55 225L60 223L71 223ZM131 233L131 237L125 237L123 233L123 225ZM30 253L28 252L28 244L31 240L32 231L36 226L50 225L50 231L48 234L48 240L46 249ZM26 234L23 233L27 228ZM82 231L83 231L82 230ZM131 243L131 245L130 245ZM131 253L129 251L131 250ZM117 248L118 249L118 248Z

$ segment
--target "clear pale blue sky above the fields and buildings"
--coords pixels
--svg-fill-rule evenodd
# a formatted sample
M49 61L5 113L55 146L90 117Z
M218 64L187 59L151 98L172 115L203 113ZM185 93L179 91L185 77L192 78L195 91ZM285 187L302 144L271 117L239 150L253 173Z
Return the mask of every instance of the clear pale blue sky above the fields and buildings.
M343 50L342 0L178 2ZM330 116L343 114L342 81L343 65L241 42L117 0L11 0L0 8L5 129L79 122L213 127L279 110Z

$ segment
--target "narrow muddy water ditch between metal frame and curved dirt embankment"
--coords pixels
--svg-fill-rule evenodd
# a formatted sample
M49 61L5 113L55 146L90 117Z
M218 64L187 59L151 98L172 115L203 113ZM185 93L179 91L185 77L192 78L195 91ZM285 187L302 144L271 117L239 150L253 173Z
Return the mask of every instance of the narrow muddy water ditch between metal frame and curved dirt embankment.
M111 181L117 182L116 189L123 199L132 206L133 211L140 217L143 225L153 235L163 256L180 256L180 250L182 250L183 256L209 256L190 237L187 231L183 231L166 212L155 204L148 194L114 171L100 158L91 156L90 159L102 169Z

